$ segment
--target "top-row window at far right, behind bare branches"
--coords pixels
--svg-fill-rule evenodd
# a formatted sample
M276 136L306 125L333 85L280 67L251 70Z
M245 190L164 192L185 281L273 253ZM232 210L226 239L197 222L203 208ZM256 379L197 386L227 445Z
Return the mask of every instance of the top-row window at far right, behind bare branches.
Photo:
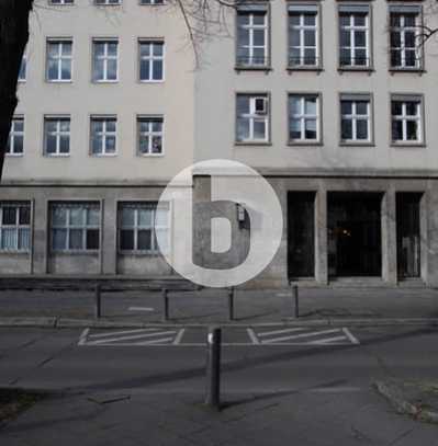
M418 7L390 7L391 68L419 69L420 9Z

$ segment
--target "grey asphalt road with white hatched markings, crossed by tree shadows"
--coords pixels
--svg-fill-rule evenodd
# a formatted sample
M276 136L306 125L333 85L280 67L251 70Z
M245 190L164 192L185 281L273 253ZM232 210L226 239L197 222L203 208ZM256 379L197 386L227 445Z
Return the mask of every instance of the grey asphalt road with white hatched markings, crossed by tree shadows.
M0 386L203 392L205 329L159 330L1 329ZM437 329L281 330L224 329L224 392L355 392L379 378L437 377Z

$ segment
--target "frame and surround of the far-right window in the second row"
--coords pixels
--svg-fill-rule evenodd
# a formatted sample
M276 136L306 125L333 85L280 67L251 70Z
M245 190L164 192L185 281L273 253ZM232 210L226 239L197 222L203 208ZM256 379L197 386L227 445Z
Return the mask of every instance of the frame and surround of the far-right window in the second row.
M392 114L392 104L393 102L417 102L418 103L418 112L419 112L419 129L417 128L417 135L419 136L419 139L414 140L414 139L393 139L393 134L392 134L392 125L393 125L393 114ZM405 106L404 106L405 107ZM390 94L390 146L391 147L426 147L426 114L425 114L425 98L423 94L414 94L414 93L391 93ZM409 115L397 115L406 117ZM402 121L402 119L396 119L396 121ZM414 121L414 119L405 119L407 121ZM405 133L405 125L403 125L403 133Z

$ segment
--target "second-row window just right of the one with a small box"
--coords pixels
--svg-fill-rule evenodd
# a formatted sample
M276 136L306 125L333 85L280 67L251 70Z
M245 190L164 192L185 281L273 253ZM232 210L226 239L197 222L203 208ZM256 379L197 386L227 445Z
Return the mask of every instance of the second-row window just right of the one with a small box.
M289 139L291 142L319 141L319 98L317 94L289 95Z

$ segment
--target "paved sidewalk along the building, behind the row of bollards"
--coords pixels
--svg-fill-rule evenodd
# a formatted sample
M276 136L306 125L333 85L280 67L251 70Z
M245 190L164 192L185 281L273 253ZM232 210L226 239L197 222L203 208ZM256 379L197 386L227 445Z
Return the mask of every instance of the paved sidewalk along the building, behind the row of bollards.
M438 290L427 288L302 288L300 319L290 289L237 290L233 323L404 323L438 322ZM101 324L162 322L159 293L104 293ZM87 325L94 321L94 296L87 291L2 291L0 324ZM171 293L169 321L178 324L229 323L225 290Z

